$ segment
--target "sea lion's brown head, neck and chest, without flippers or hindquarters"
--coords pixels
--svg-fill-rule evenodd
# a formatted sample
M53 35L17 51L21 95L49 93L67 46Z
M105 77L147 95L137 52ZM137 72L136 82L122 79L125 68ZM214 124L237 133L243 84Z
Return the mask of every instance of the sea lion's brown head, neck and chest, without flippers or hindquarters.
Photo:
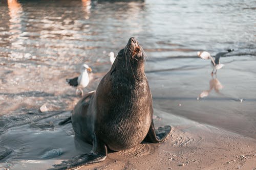
M144 73L143 53L135 38L130 38L118 53L95 98L95 132L111 150L132 148L146 137L153 117L152 96Z

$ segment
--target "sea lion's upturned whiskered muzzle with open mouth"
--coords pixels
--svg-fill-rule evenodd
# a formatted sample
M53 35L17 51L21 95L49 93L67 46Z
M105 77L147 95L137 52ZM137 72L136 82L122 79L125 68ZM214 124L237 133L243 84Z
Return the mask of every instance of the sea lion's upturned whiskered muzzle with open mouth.
M130 53L132 59L138 60L138 58L142 57L143 55L143 49L139 45L138 41L131 37L125 47L125 53Z

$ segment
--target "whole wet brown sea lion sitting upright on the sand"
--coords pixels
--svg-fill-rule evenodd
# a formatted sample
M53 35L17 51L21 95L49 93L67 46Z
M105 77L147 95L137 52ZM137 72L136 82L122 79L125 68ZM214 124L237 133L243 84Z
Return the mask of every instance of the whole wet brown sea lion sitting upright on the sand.
M91 153L54 165L66 169L103 161L108 148L121 151L143 140L161 142L170 126L155 130L152 94L144 72L144 52L134 37L119 51L96 91L84 95L72 111L75 135L91 143Z

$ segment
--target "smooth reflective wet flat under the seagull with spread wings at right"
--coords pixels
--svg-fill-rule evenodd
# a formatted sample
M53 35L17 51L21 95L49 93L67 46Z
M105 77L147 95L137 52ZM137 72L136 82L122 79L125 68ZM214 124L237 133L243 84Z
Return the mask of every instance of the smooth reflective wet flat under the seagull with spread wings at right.
M173 60L174 65L179 62L190 66L148 75L155 108L256 139L254 57L236 56L236 53L222 57L225 66L214 78L209 61L196 58ZM205 66L194 65L197 62L203 62ZM158 65L161 63L158 61ZM202 91L210 88L212 80L217 80L222 88L212 89L208 96L197 100Z

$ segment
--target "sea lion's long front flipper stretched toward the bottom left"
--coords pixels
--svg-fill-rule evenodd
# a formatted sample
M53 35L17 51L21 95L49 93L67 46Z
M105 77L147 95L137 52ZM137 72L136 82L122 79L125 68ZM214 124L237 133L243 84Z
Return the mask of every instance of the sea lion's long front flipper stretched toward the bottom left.
M70 160L62 161L60 164L53 165L53 168L48 170L61 170L61 169L69 169L82 165L89 165L93 163L98 163L106 159L107 148L104 145L104 152L100 153L88 153L83 155L78 155L73 157Z

